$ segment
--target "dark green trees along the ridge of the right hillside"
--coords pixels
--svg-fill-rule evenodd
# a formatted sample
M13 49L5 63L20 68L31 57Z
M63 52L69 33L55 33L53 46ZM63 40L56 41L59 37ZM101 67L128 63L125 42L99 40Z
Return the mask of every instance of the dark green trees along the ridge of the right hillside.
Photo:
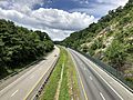
M71 33L70 37L68 37L66 39L64 39L61 44L65 46L65 47L72 47L74 49L79 48L80 44L91 41L93 40L93 38L100 32L102 31L104 28L106 28L110 22L112 21L112 19L114 19L114 11L112 11L112 13L102 17L98 23L91 23L88 28Z

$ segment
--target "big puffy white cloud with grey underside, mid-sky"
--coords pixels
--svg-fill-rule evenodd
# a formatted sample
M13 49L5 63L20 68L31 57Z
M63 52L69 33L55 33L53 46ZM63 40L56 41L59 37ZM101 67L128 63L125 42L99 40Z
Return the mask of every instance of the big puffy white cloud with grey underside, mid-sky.
M85 13L69 13L63 10L43 8L32 11L31 17L47 27L62 30L83 29L94 21L93 16L88 16Z

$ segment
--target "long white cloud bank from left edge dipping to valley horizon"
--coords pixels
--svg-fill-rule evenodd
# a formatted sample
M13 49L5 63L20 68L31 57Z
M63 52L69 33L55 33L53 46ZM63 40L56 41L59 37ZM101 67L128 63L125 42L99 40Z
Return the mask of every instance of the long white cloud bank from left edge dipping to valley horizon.
M44 30L53 40L62 40L71 32L84 29L95 21L93 16L85 13L69 13L63 10L43 8L29 10L28 13L0 8L0 18L12 20L30 29Z

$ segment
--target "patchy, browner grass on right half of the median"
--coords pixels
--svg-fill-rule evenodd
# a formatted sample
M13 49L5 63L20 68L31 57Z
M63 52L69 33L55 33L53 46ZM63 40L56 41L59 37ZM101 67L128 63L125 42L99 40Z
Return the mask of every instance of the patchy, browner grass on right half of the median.
M71 100L71 98L80 100L75 67L69 52L66 52L66 57L59 100Z

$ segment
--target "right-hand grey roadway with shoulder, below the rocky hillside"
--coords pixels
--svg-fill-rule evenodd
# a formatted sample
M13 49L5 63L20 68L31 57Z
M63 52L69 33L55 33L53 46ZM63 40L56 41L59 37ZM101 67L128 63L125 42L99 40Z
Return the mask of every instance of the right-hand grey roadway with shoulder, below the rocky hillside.
M133 93L79 52L68 49L74 61L82 100L133 100Z

